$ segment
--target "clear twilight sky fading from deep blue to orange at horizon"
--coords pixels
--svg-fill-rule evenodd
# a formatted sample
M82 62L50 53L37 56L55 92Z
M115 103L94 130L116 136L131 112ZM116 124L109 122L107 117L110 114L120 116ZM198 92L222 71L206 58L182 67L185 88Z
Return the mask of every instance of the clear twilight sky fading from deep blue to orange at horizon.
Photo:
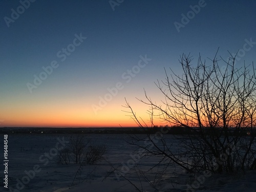
M256 1L0 2L0 127L135 126L182 53L256 61ZM224 62L223 62L224 65ZM158 123L161 125L161 122Z

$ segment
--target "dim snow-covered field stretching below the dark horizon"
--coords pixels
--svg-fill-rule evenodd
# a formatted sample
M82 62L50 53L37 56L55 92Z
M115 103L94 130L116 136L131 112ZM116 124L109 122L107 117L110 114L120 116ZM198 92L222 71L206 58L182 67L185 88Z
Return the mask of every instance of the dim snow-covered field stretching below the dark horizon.
M170 166L165 172L155 167L145 174L140 170L153 167L158 159L140 159L133 154L135 147L128 144L129 135L91 134L91 145L106 145L104 160L94 165L58 163L58 148L68 145L69 134L17 134L8 135L8 189L4 187L4 166L1 163L0 191L77 192L77 191L256 191L256 172L246 175L197 175L191 179L183 170ZM167 142L172 142L168 135ZM4 138L1 135L1 138ZM3 143L3 142L2 142ZM1 147L1 154L4 154ZM4 157L1 155L1 161ZM122 173L123 177L120 177ZM75 178L75 180L74 180ZM80 178L80 179L79 179ZM72 185L72 182L74 183ZM152 185L155 186L155 188Z

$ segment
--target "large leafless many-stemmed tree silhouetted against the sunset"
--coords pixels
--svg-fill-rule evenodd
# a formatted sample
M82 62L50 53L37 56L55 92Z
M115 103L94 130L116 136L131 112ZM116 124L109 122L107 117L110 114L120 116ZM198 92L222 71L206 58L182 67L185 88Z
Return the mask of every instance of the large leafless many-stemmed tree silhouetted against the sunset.
M218 51L217 51L218 53ZM136 116L126 101L125 112L142 129L154 126L154 120L186 127L189 135L177 138L179 149L166 144L161 128L159 134L147 134L145 138L134 136L131 144L144 150L142 156L158 156L158 165L176 164L187 172L210 170L214 173L236 172L255 167L255 120L256 120L256 76L253 63L235 68L236 56L229 60L222 57L209 59L210 65L199 56L197 65L193 58L183 54L180 65L183 74L172 69L165 81L155 84L165 100L153 101L144 91L151 125ZM224 63L221 68L219 62ZM160 130L160 129L159 129ZM141 144L145 141L150 144Z

